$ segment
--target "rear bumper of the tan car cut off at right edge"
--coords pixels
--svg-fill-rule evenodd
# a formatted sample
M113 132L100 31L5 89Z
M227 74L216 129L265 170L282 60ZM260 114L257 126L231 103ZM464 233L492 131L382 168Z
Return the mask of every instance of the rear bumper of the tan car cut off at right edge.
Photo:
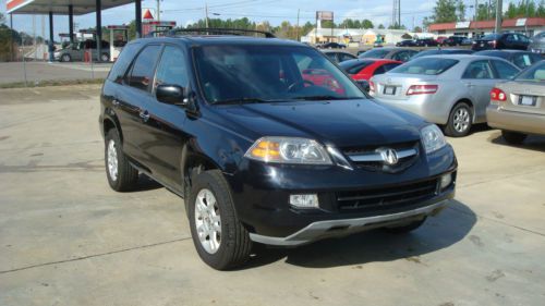
M545 115L498 109L495 105L486 108L486 119L491 127L545 135Z

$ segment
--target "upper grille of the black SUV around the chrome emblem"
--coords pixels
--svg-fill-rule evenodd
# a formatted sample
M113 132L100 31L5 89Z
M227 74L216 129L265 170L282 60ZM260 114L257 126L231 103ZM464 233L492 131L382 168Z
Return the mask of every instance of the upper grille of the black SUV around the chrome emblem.
M416 159L419 158L419 142L408 142L408 143L399 143L399 144L390 144L380 147L388 147L395 149L396 151L403 151L414 149L416 151L415 155L408 156L404 158L400 158L397 164L387 166L383 160L365 160L365 161L356 161L353 158L358 156L366 156L375 152L379 147L360 147L360 148L346 148L342 151L349 157L352 162L361 169L370 170L370 171L383 171L383 172L400 172L407 168L409 168Z

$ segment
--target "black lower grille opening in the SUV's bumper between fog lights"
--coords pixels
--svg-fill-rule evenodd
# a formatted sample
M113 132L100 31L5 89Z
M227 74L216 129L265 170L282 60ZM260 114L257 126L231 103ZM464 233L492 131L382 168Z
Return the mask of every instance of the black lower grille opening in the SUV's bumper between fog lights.
M437 195L437 180L383 187L337 192L340 212L386 210L411 206Z

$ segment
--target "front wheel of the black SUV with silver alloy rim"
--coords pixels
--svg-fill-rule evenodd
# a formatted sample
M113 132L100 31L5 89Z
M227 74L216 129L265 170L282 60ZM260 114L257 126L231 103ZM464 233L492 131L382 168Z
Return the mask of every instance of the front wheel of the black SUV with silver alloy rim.
M250 258L252 241L237 217L221 171L197 174L187 200L191 235L201 259L217 270L243 265Z

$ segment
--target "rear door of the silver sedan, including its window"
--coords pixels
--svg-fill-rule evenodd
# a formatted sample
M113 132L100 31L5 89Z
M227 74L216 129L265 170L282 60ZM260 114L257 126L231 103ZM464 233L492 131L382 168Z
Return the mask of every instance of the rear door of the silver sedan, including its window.
M469 63L462 74L462 82L472 97L476 121L484 120L491 90L496 84L491 62L488 60L477 60Z

